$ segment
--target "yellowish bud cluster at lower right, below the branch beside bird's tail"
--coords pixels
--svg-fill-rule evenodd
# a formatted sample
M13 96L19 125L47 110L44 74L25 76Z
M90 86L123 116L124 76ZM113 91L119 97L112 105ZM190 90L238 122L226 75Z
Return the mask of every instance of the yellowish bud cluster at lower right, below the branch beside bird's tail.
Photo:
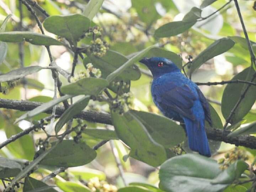
M244 161L248 160L246 151L236 147L233 150L226 153L224 158L221 158L218 160L218 163L220 164L220 169L224 170L228 168L229 165L234 163L236 160L244 160Z

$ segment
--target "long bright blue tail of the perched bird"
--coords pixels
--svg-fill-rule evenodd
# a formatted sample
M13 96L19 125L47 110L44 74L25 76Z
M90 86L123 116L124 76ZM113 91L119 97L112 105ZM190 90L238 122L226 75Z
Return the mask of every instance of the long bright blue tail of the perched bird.
M204 156L211 156L206 131L204 129L204 120L192 121L188 118L183 118L186 125L188 145L191 150L198 151Z

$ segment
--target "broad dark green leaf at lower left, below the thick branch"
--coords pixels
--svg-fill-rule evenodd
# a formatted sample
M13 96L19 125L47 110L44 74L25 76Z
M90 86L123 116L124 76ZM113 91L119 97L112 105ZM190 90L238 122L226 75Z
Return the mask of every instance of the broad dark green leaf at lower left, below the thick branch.
M52 145L55 145L55 142ZM85 143L63 140L39 164L58 167L76 167L88 164L95 158L95 150L91 149Z

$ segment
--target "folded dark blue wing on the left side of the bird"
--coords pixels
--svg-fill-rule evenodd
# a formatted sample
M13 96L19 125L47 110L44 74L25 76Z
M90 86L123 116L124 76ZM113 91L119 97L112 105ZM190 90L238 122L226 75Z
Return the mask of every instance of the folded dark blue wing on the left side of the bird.
M174 82L156 84L153 87L153 97L162 106L179 113L183 117L195 120L192 112L196 95L186 84L177 86Z

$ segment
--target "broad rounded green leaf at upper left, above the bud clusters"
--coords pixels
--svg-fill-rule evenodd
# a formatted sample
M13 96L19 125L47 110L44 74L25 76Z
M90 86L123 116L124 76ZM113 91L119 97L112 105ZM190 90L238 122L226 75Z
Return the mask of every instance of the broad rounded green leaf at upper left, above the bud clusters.
M65 37L74 43L89 29L91 21L82 14L51 16L44 20L47 31Z

